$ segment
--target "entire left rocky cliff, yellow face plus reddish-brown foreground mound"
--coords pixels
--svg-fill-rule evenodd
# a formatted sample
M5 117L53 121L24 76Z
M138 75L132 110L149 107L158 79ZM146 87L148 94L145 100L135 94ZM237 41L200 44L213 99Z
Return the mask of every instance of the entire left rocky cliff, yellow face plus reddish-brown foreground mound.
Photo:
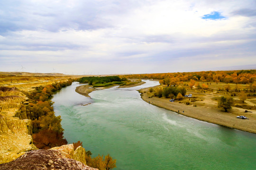
M0 170L98 170L86 165L82 146L38 150L27 119L28 104L17 88L0 87Z

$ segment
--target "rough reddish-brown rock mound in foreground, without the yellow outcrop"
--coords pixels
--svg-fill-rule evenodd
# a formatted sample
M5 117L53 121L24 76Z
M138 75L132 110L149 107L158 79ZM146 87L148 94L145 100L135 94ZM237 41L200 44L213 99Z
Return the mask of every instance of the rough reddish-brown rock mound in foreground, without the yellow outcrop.
M0 164L0 170L98 170L67 158L59 150L30 151L18 159Z

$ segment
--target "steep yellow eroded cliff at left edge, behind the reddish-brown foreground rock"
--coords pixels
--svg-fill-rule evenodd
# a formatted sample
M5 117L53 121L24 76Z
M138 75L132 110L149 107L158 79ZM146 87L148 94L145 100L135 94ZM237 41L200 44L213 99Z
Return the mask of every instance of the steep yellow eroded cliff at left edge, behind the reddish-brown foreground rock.
M24 110L25 96L16 88L0 87L0 163L37 149L31 137L31 120L15 117Z

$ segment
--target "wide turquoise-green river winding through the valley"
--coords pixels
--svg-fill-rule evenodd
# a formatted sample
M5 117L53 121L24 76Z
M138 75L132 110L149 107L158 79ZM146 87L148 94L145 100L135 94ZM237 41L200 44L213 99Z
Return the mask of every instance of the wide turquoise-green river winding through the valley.
M110 153L115 170L256 170L256 134L144 102L136 90L155 85L98 90L91 99L75 92L77 83L63 88L53 101L65 138L93 157Z

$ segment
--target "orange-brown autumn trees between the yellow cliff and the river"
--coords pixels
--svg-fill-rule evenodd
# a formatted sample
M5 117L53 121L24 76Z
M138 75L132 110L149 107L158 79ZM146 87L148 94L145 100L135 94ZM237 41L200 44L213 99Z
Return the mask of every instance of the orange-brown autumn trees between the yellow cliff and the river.
M32 120L32 138L38 149L49 149L67 144L63 136L61 117L55 116L52 94L62 87L71 85L72 79L52 85L36 87L36 92L27 93L30 99L26 106L27 119Z

